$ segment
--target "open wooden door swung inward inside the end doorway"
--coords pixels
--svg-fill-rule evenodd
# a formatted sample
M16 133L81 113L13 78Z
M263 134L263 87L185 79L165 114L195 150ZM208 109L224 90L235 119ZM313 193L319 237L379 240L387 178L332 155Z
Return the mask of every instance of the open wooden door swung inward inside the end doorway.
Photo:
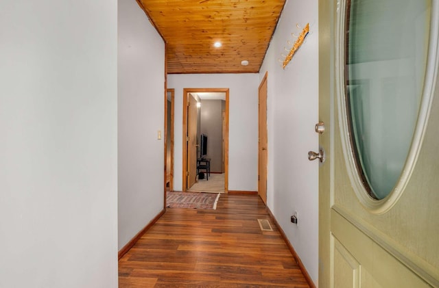
M197 101L187 94L187 189L197 179Z

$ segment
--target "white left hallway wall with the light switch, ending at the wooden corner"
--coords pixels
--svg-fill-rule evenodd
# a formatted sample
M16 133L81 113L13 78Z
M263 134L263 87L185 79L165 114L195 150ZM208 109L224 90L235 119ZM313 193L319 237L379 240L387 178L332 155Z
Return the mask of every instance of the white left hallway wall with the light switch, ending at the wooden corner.
M136 1L118 12L120 250L164 208L165 44Z

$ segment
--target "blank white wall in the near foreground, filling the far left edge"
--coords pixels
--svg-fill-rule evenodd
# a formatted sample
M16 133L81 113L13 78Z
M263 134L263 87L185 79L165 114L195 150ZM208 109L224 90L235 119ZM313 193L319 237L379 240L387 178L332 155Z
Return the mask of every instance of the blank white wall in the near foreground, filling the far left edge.
M1 1L0 39L0 287L117 287L117 1Z

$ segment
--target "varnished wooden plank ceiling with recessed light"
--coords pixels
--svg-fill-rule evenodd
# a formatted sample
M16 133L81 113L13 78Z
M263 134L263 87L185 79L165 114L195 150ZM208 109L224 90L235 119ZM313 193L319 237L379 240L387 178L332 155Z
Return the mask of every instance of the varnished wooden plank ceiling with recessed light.
M167 73L258 73L285 0L137 0L166 42ZM221 42L222 47L213 46ZM241 61L247 60L248 66Z

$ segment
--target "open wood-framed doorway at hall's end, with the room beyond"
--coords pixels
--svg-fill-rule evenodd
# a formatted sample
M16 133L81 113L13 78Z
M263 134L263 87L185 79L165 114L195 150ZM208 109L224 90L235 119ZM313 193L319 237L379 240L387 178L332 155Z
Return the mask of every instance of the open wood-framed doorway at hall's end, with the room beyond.
M227 192L228 88L185 88L182 130L182 190Z

